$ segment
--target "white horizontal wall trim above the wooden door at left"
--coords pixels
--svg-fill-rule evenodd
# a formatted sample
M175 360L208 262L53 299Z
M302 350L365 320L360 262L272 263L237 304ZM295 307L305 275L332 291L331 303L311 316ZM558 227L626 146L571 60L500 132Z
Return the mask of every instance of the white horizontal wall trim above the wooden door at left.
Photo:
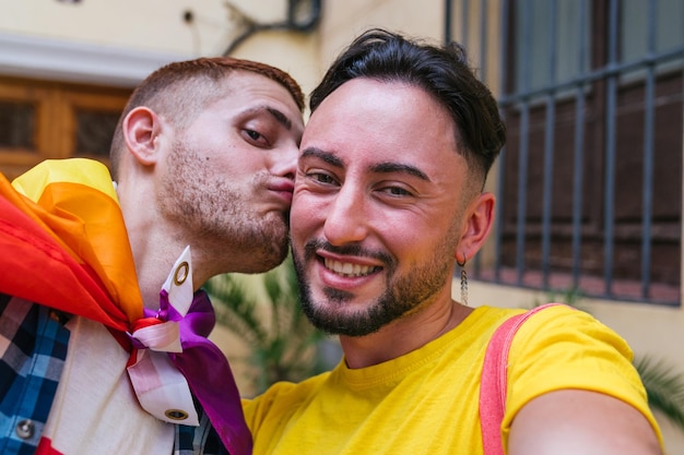
M191 58L0 32L0 74L135 86L165 63Z

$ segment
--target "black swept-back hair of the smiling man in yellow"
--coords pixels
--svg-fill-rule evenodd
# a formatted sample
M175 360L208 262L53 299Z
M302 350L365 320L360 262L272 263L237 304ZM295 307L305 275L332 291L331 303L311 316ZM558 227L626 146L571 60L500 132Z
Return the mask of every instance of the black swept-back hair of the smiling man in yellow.
M429 93L451 115L458 152L484 182L506 143L506 127L461 45L437 47L382 28L368 29L337 58L311 92L311 113L328 95L356 77L404 82Z

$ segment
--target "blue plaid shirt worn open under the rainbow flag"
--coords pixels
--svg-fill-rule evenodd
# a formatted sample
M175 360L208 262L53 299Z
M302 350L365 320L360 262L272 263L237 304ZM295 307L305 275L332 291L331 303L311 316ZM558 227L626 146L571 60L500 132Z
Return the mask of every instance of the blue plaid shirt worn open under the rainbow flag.
M0 294L0 453L34 454L61 376L68 315ZM176 426L174 455L227 451L201 407L200 426Z

